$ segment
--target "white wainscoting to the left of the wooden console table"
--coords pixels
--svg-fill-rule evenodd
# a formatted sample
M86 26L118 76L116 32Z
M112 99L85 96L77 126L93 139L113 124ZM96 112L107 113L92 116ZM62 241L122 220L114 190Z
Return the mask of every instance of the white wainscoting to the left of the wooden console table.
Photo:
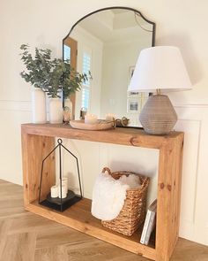
M31 121L31 104L0 100L0 179L22 184L21 123Z

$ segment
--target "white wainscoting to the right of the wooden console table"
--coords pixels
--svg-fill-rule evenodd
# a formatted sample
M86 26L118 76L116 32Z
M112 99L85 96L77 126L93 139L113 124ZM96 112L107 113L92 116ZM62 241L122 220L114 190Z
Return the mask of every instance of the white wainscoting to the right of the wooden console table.
M208 245L208 105L175 106L185 132L180 236Z

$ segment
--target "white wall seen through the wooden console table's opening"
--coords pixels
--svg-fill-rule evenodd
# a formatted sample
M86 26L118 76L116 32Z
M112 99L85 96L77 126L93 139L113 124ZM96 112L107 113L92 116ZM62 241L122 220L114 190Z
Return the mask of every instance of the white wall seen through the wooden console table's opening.
M95 132L96 134L96 132ZM131 171L152 177L148 203L157 196L158 150L136 148L100 142L63 140L64 145L78 157L84 196L92 198L93 184L102 168L108 166L114 171ZM151 158L151 160L150 160ZM72 184L78 189L78 179L72 158L64 154L64 174L69 174Z

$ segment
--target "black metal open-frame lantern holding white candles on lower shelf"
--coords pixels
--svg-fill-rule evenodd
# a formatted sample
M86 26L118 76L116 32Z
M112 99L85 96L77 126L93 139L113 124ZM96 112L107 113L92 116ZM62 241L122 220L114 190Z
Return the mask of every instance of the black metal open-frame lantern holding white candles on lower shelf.
M77 203L79 200L82 199L82 188L81 188L81 181L80 181L80 174L79 174L79 167L78 167L78 157L76 157L70 150L66 149L66 147L63 146L62 139L57 140L56 147L50 151L47 157L45 157L42 160L41 165L41 180L40 180L40 190L39 190L39 203L43 206L47 206L51 209L54 209L56 211L65 211L69 207L71 207L72 204ZM62 148L69 152L72 157L76 158L77 163L77 171L78 171L78 183L79 183L79 192L80 195L76 195L72 190L69 190L67 188L67 195L63 196L63 170L62 170ZM57 188L59 190L59 196L52 197L51 192L48 193L46 198L44 200L41 200L41 187L42 187L42 173L43 173L43 167L44 163L47 160L47 158L56 150L58 149L59 152L59 187Z

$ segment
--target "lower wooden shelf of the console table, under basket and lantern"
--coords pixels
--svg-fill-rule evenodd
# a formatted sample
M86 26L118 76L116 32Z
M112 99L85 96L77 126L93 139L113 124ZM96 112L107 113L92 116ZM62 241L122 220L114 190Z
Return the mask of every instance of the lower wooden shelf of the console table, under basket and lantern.
M83 198L78 203L71 206L66 211L58 212L47 207L41 206L38 202L30 203L26 206L27 211L32 211L35 214L41 215L47 219L54 220L65 226L70 226L85 234L90 234L102 241L114 244L122 249L129 250L137 255L156 259L156 251L154 242L145 246L140 244L141 229L131 236L126 236L113 232L112 230L101 225L99 219L95 219L91 214L91 200Z

